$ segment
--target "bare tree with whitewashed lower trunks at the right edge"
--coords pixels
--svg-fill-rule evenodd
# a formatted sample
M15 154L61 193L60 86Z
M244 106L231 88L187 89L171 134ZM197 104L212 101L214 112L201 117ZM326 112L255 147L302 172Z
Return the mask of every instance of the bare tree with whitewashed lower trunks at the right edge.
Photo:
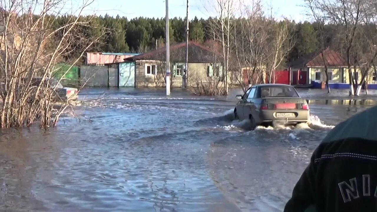
M375 67L377 57L375 48L377 2L375 0L306 1L313 14L322 17L322 22L319 23L336 25L338 34L336 44L347 61L349 95L359 95L363 85L365 89L367 88L367 79L372 68ZM359 78L355 78L359 71L362 75L360 81Z

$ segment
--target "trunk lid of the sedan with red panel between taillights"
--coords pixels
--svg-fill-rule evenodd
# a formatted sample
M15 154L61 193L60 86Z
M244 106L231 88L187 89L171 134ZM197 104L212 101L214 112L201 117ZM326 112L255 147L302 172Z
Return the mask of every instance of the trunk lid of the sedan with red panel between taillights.
M301 109L306 102L297 97L267 97L262 104L267 104L268 109Z

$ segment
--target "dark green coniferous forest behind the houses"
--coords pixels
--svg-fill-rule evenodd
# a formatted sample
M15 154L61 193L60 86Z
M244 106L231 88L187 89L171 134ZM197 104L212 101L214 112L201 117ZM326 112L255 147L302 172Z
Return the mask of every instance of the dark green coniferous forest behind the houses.
M67 17L59 17L59 22L64 22ZM85 17L83 17L85 18ZM89 18L89 17L87 17ZM111 17L109 15L90 17L88 37L100 35L104 29L109 29L105 36L101 37L100 42L91 46L88 52L134 52L142 53L151 49L160 48L165 43L165 18L133 18ZM203 45L211 39L209 32L212 18L193 18L189 22L189 40L195 40ZM236 20L237 21L237 20ZM308 54L319 49L317 38L317 23L290 23L291 36L295 40L290 54L286 61ZM326 31L326 42L331 43L333 38L331 25L324 25ZM184 42L186 39L186 20L184 18L170 19L170 43Z

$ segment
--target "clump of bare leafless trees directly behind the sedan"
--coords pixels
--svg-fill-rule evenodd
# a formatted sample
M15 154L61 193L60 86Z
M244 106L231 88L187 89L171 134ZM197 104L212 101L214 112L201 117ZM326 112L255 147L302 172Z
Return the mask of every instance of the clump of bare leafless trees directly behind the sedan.
M241 2L241 18L232 33L232 56L236 58L236 80L247 89L256 83L274 83L279 68L294 44L293 28L288 20L278 22L266 15L261 0Z

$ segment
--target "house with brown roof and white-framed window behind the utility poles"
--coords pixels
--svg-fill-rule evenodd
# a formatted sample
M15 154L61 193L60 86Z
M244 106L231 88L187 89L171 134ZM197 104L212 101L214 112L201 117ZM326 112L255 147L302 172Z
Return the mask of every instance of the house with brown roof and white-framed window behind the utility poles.
M195 41L189 41L187 84L193 81L208 81L216 74L221 74L222 66L216 62L219 56L211 49ZM186 45L178 43L170 46L170 74L172 87L182 87L185 69ZM120 65L120 74L135 75L135 87L165 87L166 47L124 59ZM121 75L120 75L121 78ZM121 79L120 79L121 81ZM120 83L121 85L121 83Z

